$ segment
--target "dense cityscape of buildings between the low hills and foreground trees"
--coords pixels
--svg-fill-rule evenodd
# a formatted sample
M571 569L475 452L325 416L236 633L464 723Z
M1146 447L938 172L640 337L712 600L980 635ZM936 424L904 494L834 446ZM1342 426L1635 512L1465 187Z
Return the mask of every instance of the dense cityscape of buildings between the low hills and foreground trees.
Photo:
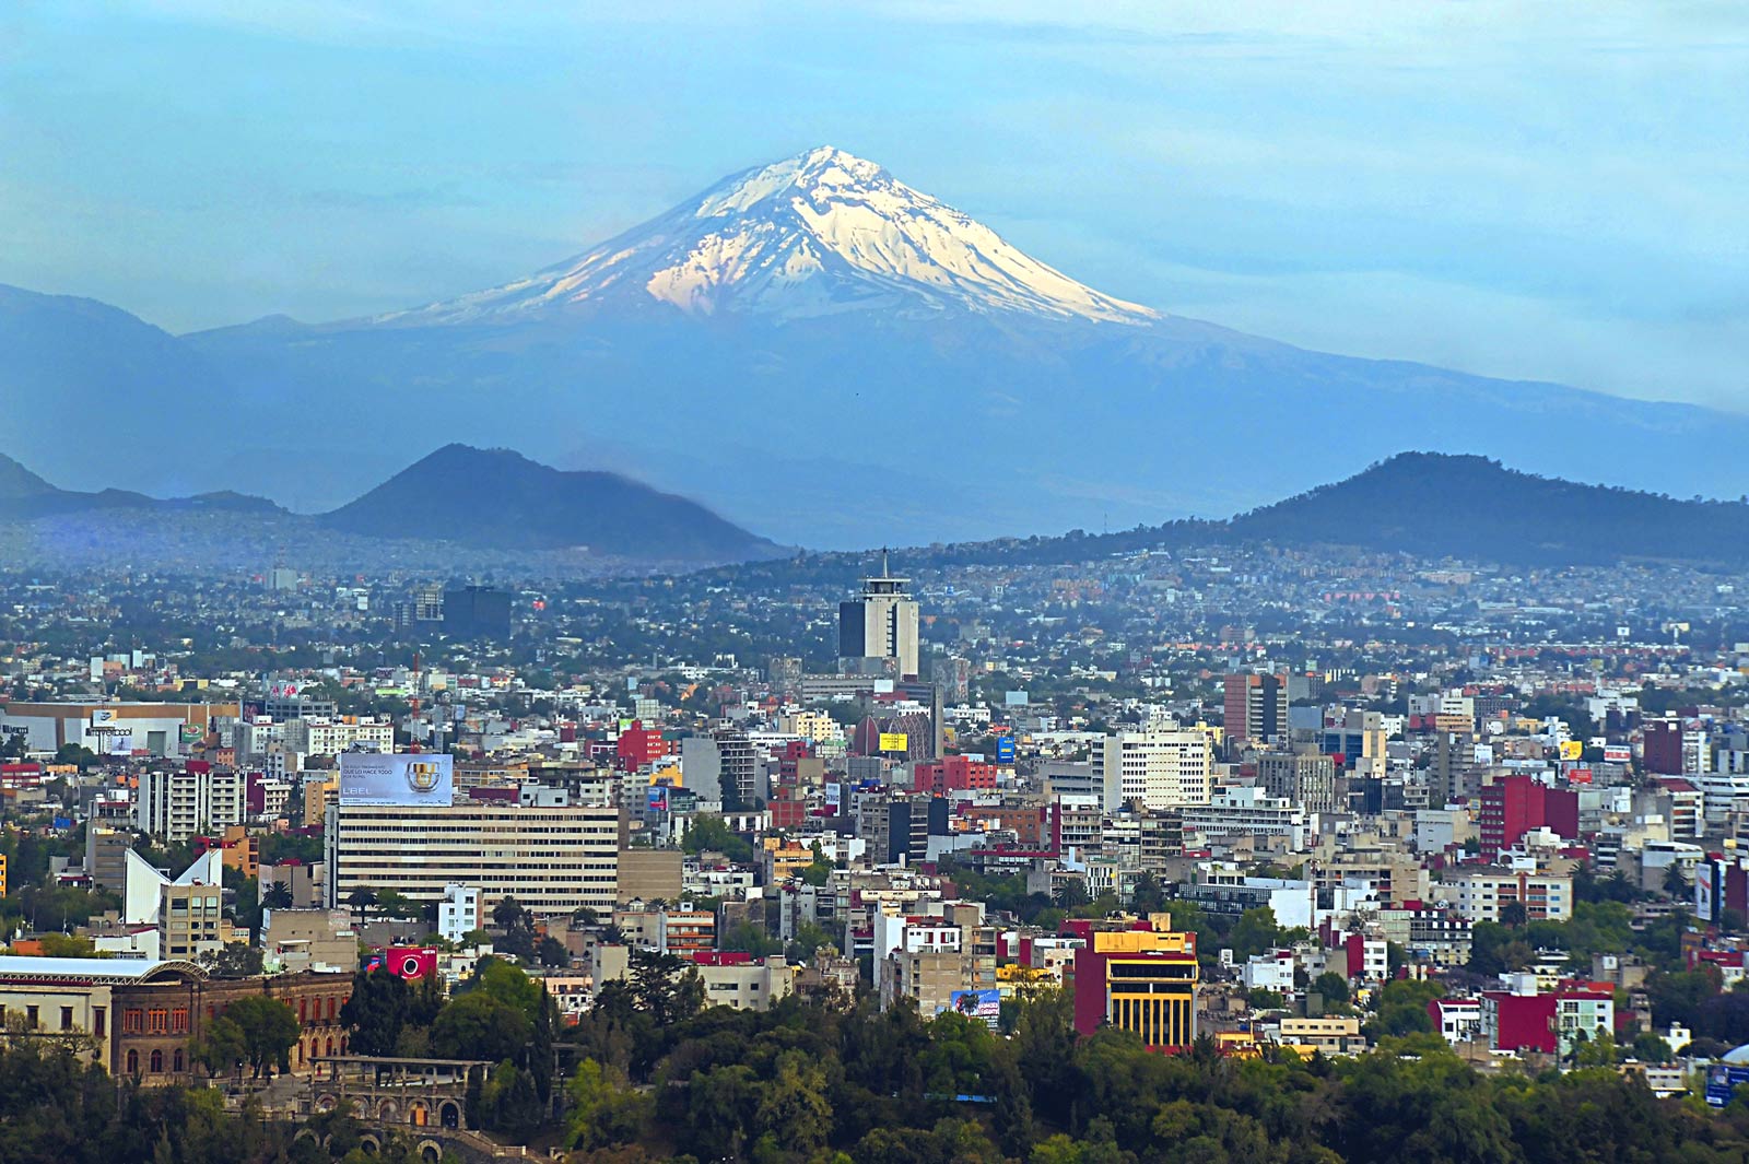
M1069 1070L1020 1052L1046 1028L1704 1106L1749 1077L1749 579L953 563L5 575L12 1045L456 1159L810 1157L661 1117L663 1040L719 1008L967 1042L908 1098L962 1136L1002 1070ZM759 1070L827 1112L801 1143L890 1159L812 1057Z

